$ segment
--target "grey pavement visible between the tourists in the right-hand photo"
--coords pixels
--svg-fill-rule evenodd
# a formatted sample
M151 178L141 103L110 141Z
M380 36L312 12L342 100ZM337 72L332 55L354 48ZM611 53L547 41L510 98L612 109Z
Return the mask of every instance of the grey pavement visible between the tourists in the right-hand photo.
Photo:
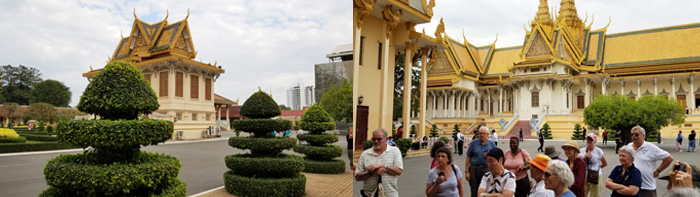
M683 141L683 152L678 152L676 150L676 143L674 138L665 138L663 141L663 144L658 144L656 142L654 142L653 144L658 145L659 147L661 147L661 149L671 153L674 160L686 161L689 164L695 165L700 164L700 152L698 152L700 151L700 149L696 150L696 152L686 152L686 150L688 149L687 139ZM586 146L586 144L583 141L579 140L578 142L579 147ZM545 146L554 145L555 147L557 147L557 150L561 152L561 157L566 158L564 151L561 149L561 145L563 144L563 140L545 141ZM615 154L615 141L609 141L606 145L603 145L602 142L599 141L596 144L596 146L603 150L603 152L605 153L605 158L608 161L608 166L603 168L603 183L600 184L600 196L610 196L612 191L605 187L604 182L608 175L610 175L610 171L612 171L612 169L615 166L620 165L618 156ZM503 142L501 141L499 142L498 147L501 149L508 149L508 144L503 144ZM537 152L537 147L539 147L539 143L536 140L525 140L525 142L522 142L520 144L520 148L527 150L528 153L530 153L530 155L533 157L537 154L540 154ZM458 167L462 171L464 171L464 162L466 160L466 156L454 156L453 158L454 164L458 165ZM426 196L425 186L428 171L430 170L430 161L431 158L429 155L404 158L404 171L398 179L399 196ZM656 166L658 167L660 164L661 162L657 162ZM660 176L665 175L662 174ZM662 196L667 191L667 182L659 179L656 180L657 194L659 196ZM531 181L534 182L533 179L531 179ZM462 183L464 185L464 196L470 196L469 184L464 179L462 179ZM353 179L353 196L360 197L360 189L362 189L362 182L358 182Z

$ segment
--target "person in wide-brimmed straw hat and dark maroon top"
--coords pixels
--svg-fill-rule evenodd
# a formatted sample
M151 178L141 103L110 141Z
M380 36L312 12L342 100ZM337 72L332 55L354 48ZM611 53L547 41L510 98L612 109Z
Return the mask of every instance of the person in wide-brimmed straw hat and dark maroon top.
M584 184L586 183L586 162L578 157L579 147L578 142L574 140L567 140L564 145L561 146L564 149L564 154L566 155L566 164L569 165L569 169L574 174L574 182L569 187L571 192L576 196L584 196Z

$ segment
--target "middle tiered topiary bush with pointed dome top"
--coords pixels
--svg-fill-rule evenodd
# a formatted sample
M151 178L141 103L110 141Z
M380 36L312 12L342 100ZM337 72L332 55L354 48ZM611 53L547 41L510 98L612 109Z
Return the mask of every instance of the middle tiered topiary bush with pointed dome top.
M299 173L304 169L304 159L282 154L282 150L296 146L297 139L271 135L292 127L291 121L270 119L280 115L277 103L258 91L243 103L241 115L250 119L235 120L233 127L254 135L229 138L231 147L250 153L226 156L226 167L231 169L224 173L226 191L237 196L305 195L306 177Z

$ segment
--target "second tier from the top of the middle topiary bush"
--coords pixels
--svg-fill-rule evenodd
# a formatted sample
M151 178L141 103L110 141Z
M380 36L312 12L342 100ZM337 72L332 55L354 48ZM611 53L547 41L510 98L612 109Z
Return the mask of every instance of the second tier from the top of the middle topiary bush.
M255 133L255 137L272 137L268 135L272 131L286 131L292 128L292 121L274 119L242 119L234 120L233 128L249 133Z

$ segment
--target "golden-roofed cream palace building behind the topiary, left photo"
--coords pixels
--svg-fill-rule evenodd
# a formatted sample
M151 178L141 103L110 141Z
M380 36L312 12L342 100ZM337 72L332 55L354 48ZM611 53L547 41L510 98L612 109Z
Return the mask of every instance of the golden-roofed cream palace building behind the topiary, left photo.
M110 61L132 62L151 84L160 108L151 118L175 122L177 139L206 137L203 132L216 125L216 106L234 105L236 102L214 94L214 83L221 67L194 60L197 52L192 42L187 18L168 23L167 16L160 22L149 24L134 14L129 36L122 37ZM83 73L90 80L100 70ZM221 100L221 99L219 99ZM219 103L216 103L219 102Z

